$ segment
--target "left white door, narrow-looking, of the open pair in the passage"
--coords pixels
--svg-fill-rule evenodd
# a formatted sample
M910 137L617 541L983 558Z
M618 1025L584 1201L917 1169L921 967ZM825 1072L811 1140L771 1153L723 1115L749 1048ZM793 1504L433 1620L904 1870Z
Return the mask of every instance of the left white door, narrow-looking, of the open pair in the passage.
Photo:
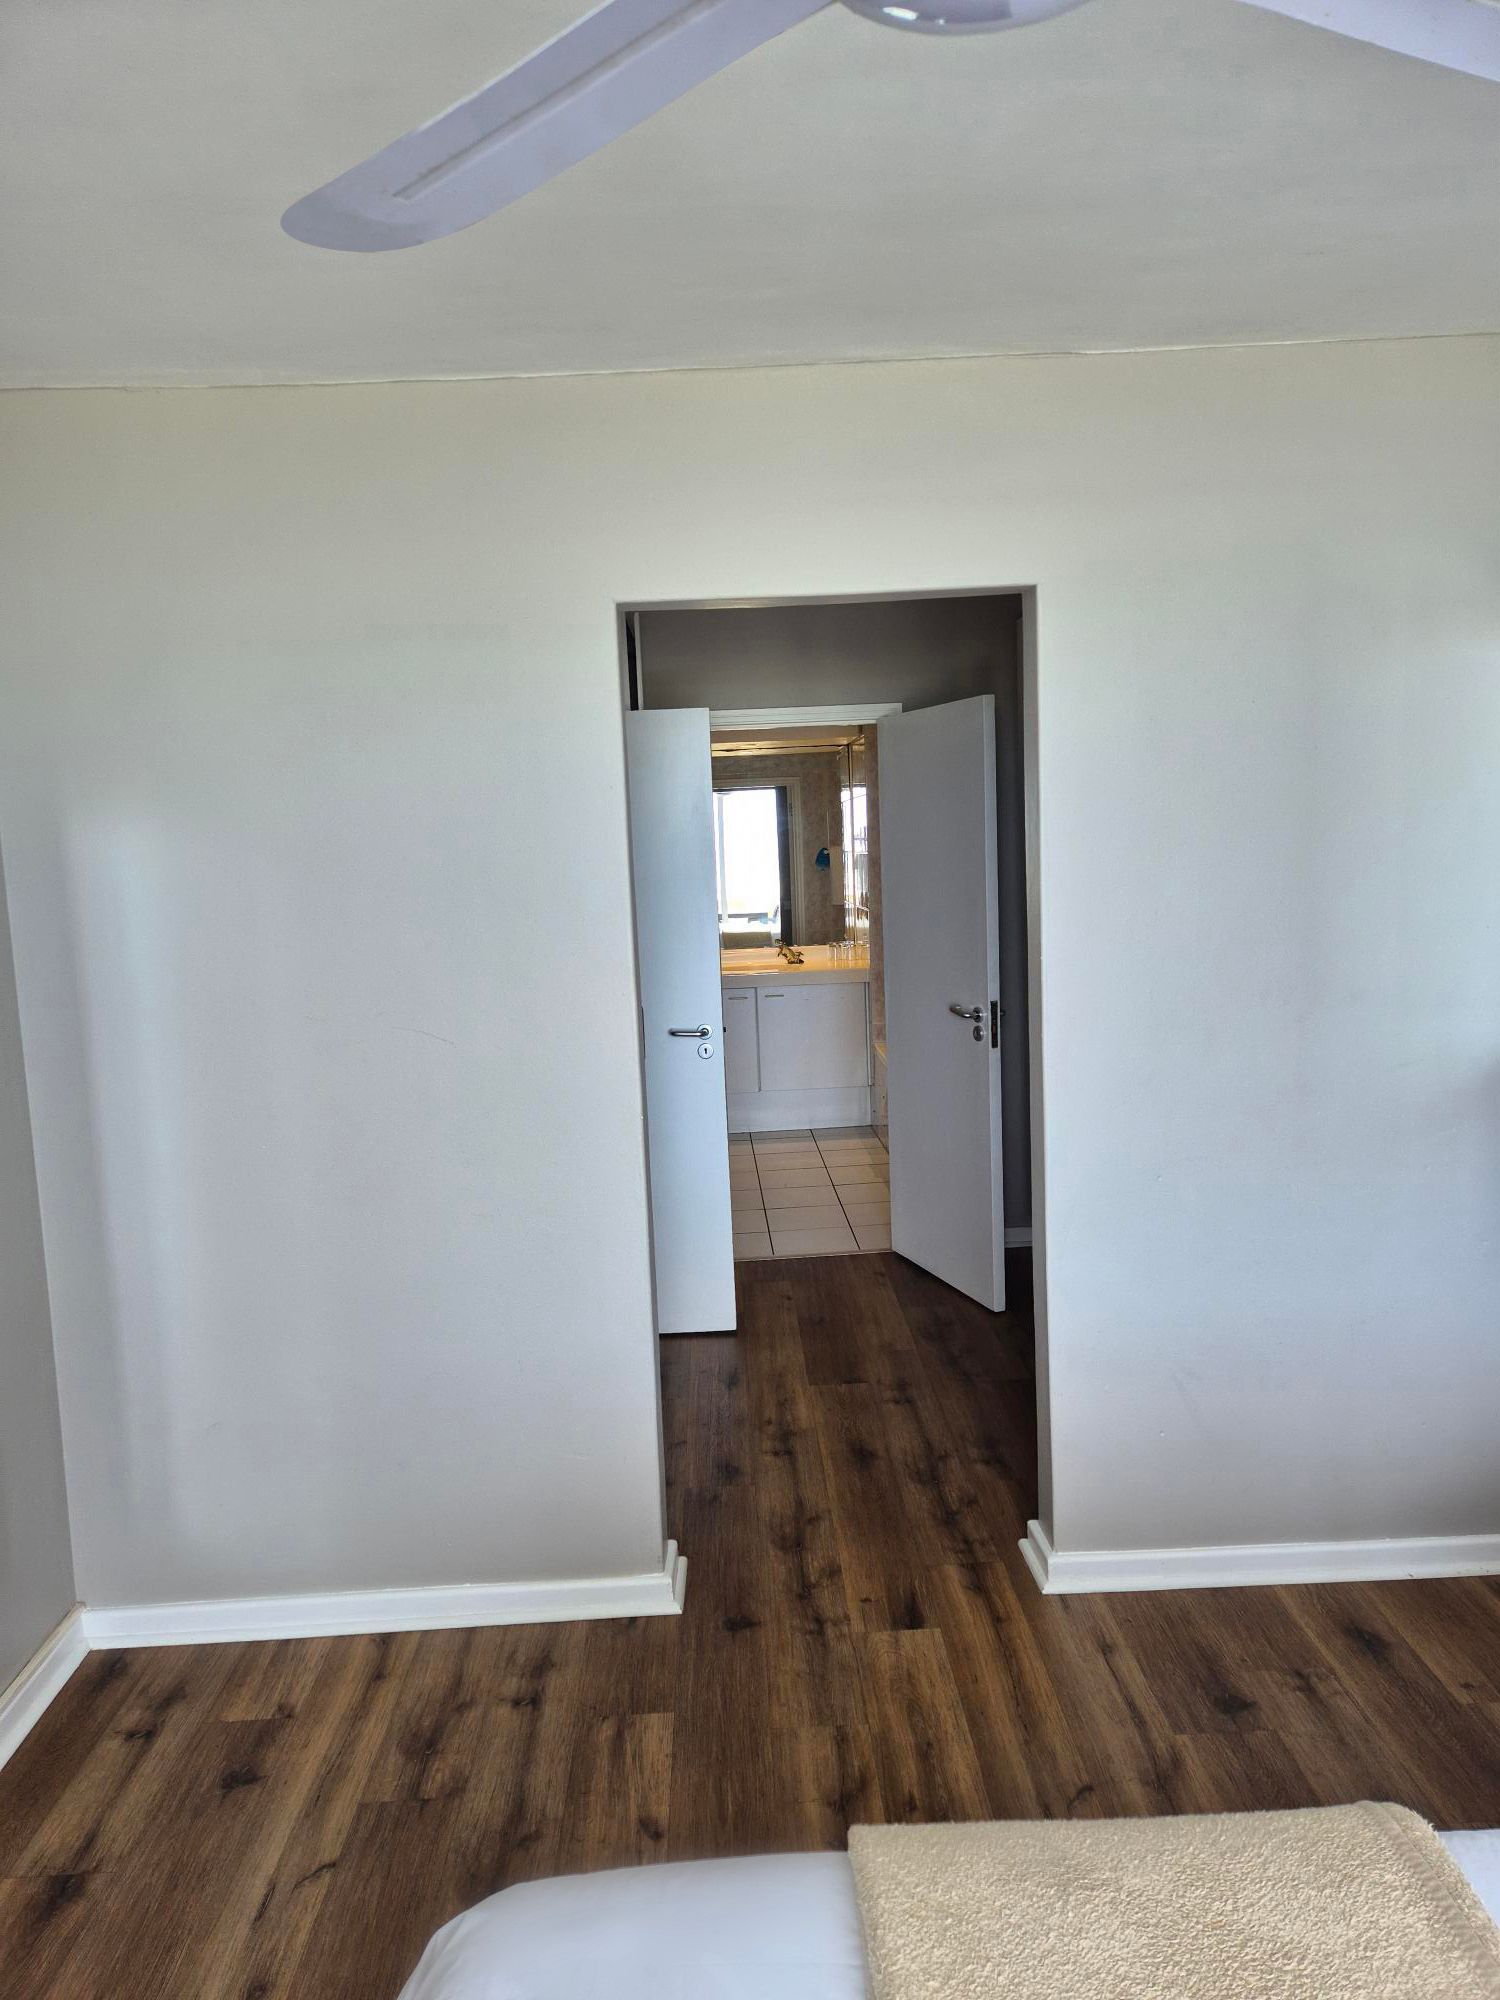
M626 716L656 1330L734 1330L734 1224L706 708Z

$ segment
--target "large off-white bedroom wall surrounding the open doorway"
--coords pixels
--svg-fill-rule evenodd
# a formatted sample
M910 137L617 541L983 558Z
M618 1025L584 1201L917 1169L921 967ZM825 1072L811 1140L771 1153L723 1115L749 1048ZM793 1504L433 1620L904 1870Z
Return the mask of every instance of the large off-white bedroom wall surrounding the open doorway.
M88 1598L656 1560L652 598L1038 588L1058 1546L1500 1526L1500 342L0 424Z

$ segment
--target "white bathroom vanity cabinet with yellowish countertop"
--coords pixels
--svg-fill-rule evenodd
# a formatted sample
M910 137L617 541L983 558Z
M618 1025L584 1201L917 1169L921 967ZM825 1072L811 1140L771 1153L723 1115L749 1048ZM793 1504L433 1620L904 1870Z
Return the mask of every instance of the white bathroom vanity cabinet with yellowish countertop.
M870 1122L870 964L836 946L722 954L730 1132Z

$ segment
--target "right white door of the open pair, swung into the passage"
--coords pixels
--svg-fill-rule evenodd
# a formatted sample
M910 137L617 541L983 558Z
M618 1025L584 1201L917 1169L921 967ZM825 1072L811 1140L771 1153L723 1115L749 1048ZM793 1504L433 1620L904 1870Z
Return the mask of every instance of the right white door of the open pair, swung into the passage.
M876 754L890 1242L1000 1310L994 696L886 716Z

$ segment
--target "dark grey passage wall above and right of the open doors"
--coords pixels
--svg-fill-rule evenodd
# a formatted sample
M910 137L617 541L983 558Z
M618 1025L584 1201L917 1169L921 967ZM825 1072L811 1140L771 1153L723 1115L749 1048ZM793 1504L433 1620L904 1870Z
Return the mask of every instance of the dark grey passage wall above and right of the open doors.
M994 694L1006 1228L1032 1220L1020 598L756 604L640 614L646 708L784 708Z

